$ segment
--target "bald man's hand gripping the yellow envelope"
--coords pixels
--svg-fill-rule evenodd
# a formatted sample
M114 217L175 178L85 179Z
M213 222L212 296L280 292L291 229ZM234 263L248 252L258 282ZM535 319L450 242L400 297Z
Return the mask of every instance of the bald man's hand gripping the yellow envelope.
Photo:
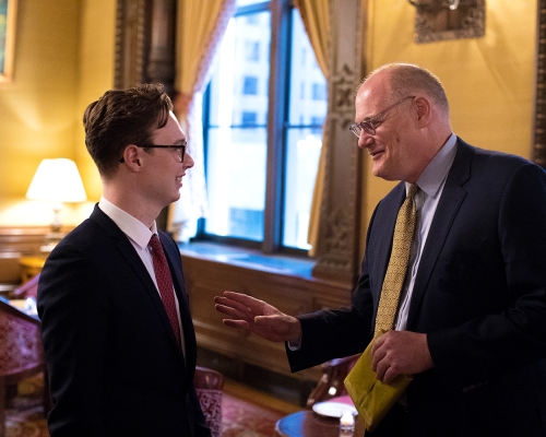
M434 367L427 335L411 331L388 331L371 346L377 379L389 383L399 375L420 374Z

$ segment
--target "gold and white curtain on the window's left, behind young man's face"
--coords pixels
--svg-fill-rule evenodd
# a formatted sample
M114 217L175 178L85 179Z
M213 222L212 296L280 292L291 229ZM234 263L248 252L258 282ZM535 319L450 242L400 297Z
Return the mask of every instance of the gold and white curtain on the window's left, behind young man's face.
M169 208L167 228L179 241L195 235L198 220L207 212L202 97L214 54L235 10L236 0L181 0L178 3L174 106L188 137L188 153L195 162L183 178L180 200Z

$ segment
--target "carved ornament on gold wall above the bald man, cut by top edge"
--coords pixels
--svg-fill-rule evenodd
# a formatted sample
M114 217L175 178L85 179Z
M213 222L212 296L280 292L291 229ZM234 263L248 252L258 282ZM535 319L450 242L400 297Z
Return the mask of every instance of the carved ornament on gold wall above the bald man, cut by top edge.
M415 42L485 35L485 0L408 0L415 7Z

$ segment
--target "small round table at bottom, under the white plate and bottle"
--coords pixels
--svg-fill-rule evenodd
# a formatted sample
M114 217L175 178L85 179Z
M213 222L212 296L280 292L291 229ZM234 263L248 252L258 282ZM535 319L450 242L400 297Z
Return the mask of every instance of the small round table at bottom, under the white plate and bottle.
M339 437L340 420L321 417L311 410L298 411L277 421L278 437ZM356 420L355 437L364 436L365 425Z

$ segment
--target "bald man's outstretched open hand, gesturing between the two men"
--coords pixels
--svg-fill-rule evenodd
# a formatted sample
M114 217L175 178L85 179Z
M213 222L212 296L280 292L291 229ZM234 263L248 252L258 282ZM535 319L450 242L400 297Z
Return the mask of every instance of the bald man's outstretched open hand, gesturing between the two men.
M301 324L295 317L281 312L266 302L246 294L224 292L214 298L217 311L228 316L224 324L244 329L274 342L299 342Z

